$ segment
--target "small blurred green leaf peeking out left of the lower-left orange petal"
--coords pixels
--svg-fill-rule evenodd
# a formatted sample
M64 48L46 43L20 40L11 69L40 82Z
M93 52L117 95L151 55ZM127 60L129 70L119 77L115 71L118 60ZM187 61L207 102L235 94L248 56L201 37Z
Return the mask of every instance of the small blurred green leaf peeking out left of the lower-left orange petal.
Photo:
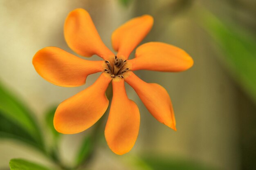
M45 114L45 122L47 127L49 128L49 130L52 132L52 135L54 137L54 140L58 140L58 138L60 137L61 133L57 132L54 128L53 125L53 118L54 118L54 114L56 111L56 106L50 108L46 114Z

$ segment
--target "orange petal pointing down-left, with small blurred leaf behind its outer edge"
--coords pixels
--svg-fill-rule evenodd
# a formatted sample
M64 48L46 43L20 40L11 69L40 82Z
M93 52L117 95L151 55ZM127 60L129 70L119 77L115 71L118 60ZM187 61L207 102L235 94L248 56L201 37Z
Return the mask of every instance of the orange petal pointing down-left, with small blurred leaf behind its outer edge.
M90 87L63 101L54 115L55 129L74 134L95 124L108 108L105 91L110 81L110 76L102 73Z

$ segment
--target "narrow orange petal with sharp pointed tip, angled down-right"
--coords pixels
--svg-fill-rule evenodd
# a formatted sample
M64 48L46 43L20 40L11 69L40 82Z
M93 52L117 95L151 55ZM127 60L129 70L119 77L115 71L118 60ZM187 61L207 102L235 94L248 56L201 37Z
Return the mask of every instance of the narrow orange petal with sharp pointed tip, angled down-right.
M146 83L132 72L125 78L125 81L134 88L141 101L155 119L176 130L171 99L162 86L155 83Z

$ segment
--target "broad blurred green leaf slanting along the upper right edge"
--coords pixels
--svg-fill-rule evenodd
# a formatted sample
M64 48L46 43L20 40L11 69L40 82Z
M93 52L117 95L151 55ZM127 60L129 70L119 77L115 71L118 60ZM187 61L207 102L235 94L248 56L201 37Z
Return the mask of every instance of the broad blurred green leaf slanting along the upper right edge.
M206 9L198 10L200 25L211 35L225 55L220 56L238 83L256 102L256 42L253 36L220 21Z

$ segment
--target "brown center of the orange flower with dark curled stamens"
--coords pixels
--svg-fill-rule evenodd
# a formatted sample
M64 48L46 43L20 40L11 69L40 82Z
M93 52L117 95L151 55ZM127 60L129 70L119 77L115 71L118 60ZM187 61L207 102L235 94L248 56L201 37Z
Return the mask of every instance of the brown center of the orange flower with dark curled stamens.
M114 62L110 63L105 60L105 63L107 64L107 68L105 68L104 71L109 73L112 78L124 78L123 73L129 70L126 65L126 60L118 59L117 56L115 56Z

